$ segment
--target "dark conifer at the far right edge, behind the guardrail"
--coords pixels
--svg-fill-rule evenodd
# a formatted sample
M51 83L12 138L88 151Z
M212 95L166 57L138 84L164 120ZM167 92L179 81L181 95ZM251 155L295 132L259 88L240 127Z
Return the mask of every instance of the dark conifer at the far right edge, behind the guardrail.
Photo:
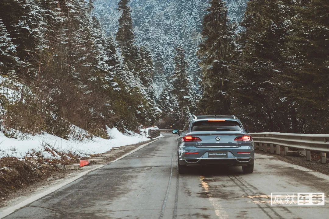
M292 8L284 52L289 77L282 88L293 109L291 131L328 133L329 2L297 1Z

